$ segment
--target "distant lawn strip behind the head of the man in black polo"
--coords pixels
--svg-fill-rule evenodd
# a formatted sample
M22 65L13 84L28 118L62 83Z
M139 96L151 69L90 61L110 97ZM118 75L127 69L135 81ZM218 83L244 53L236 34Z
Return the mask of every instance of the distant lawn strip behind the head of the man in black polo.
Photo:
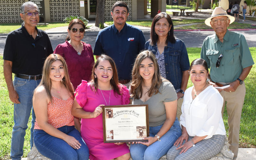
M1 33L9 33L15 29L20 28L21 23L2 23L0 24L0 34ZM68 26L68 23L65 22L52 22L49 25L38 25L36 26L38 29L46 30L56 27L64 27Z

